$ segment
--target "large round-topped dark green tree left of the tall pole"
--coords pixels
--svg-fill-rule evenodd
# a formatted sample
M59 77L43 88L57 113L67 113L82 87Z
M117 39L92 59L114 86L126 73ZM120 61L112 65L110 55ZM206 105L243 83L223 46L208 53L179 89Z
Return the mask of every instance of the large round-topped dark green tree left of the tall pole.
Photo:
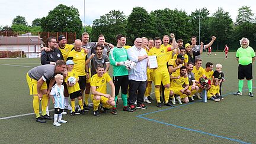
M80 38L82 21L78 9L60 4L41 18L41 28L49 32L76 32L76 37Z

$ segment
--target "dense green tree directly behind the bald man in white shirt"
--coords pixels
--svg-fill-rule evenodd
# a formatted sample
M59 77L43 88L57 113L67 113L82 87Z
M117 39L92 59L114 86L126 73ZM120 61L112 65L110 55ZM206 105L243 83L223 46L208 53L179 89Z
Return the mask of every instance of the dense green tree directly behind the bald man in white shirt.
M133 45L136 37L152 38L156 35L155 22L146 9L135 7L127 19L127 38Z

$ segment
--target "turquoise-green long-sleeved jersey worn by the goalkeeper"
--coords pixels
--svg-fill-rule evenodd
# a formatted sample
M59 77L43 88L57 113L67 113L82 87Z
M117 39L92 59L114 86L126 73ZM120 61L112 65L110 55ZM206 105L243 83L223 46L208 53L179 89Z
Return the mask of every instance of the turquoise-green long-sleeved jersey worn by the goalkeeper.
M109 53L110 64L113 66L113 76L126 76L128 75L128 70L125 66L116 66L120 61L128 60L127 50L123 47L114 47Z

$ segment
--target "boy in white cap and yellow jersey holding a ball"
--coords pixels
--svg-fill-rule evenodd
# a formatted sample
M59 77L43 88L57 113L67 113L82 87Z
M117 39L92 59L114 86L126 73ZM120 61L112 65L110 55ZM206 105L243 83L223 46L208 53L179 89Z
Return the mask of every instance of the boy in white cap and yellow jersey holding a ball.
M66 82L66 85L68 86L69 96L71 97L71 107L72 107L71 116L75 116L75 113L80 114L80 113L75 112L75 98L78 99L79 106L81 107L81 114L85 114L85 110L84 110L83 103L82 103L82 97L81 97L82 92L80 90L79 84L75 83L74 85L71 85L68 83L69 77L75 77L76 82L79 81L78 74L73 69L74 64L76 64L76 63L74 63L72 60L66 61L68 76L66 76L65 82Z

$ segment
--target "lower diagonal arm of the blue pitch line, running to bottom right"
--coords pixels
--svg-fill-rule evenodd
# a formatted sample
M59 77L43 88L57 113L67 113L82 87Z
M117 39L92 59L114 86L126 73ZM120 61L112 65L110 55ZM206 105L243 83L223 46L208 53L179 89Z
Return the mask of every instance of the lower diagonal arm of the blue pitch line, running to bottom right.
M161 124L168 125L168 126L178 127L178 128L180 128L180 129L185 129L185 130L190 130L190 131L197 132L197 133L203 133L203 134L205 134L205 135L215 136L215 137L217 137L217 138L223 138L223 139L228 139L228 140L232 140L232 141L239 142L239 143L247 143L247 144L249 144L248 142L244 142L244 141L242 141L242 140L231 139L231 138L228 138L228 137L225 137L225 136L214 135L214 134L212 134L212 133L202 132L202 131L196 130L196 129L190 129L190 128L183 127L183 126L172 125L171 123L165 123L165 122L161 122L161 121L154 120L154 119L149 119L149 118L142 117L142 116L136 116L136 117L139 117L139 118L142 118L142 119L146 119L146 120L149 120L149 121L152 121L152 122L161 123Z

